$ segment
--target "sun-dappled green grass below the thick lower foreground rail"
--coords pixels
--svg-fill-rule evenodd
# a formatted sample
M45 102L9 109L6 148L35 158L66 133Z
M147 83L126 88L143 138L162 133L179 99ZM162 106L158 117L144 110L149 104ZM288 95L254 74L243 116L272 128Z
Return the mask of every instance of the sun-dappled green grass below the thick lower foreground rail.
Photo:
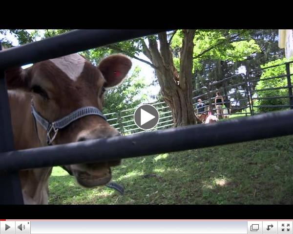
M85 189L60 167L49 204L293 204L293 136L123 160L124 195Z

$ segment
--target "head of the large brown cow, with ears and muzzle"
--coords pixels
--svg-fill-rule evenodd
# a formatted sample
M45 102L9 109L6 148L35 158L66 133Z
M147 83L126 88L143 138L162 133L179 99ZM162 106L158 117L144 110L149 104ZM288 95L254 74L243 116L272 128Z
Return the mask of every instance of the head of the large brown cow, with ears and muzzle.
M102 110L106 89L122 83L131 68L131 61L124 55L111 55L98 67L78 54L42 61L22 70L6 70L8 89L31 92L36 111L50 122L67 116L73 111L93 106ZM41 144L46 145L46 131L37 123ZM102 117L89 115L60 129L53 144L93 140L119 136ZM110 166L120 161L65 165L78 183L84 187L105 185L111 179Z

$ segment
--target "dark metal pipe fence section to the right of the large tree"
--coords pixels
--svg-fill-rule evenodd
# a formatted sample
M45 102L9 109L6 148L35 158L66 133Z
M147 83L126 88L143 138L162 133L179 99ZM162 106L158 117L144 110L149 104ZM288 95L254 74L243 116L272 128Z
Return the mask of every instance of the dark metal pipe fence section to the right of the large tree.
M209 84L206 84L206 87L202 87L200 89L194 90L193 94L197 94L193 97L193 105L196 107L198 104L197 100L198 98L202 98L203 102L205 104L208 104L210 106L210 109L212 110L213 115L215 116L232 116L232 115L245 115L245 116L253 116L255 114L264 114L270 111L275 110L286 110L286 109L293 109L293 92L292 92L292 82L291 77L293 75L292 70L290 71L290 66L293 65L293 61L277 64L270 67L265 67L257 70L251 70L247 72L247 75L244 73L236 74L227 78L224 78L222 80L216 81L216 82L210 82ZM277 75L271 76L271 77L262 77L262 73L265 70L273 69L273 68L282 68L283 72L282 74L277 73ZM282 70L282 69L281 69ZM279 70L274 71L279 72ZM272 73L274 73L272 72ZM237 78L237 76L240 76L241 79L238 83L233 84L235 81L233 81L234 78ZM238 77L239 78L239 77ZM283 81L287 81L286 84L283 85L271 85L270 87L265 88L255 88L257 82L259 81L273 81L275 79L283 79ZM227 85L227 82L230 82L230 85ZM202 89L206 89L206 93L202 92ZM284 92L288 95L285 95ZM215 108L215 93L217 91L220 91L221 96L224 97L224 99L229 101L224 101L221 103L218 103L220 105L225 105L226 107L222 106L221 112L224 110L227 110L226 113L216 114L216 108ZM277 95L268 95L271 91L280 91L281 94ZM283 92L282 92L283 91ZM261 95L263 93L266 93L266 95ZM242 98L239 98L239 96L242 96ZM278 99L273 104L258 104L259 101L264 100L270 100L270 99ZM283 101L280 101L283 100ZM197 111L199 108L195 108L195 111ZM207 109L207 108L206 108ZM264 111L265 110L265 111ZM208 110L205 110L204 112L207 112ZM201 112L202 113L202 112ZM200 113L199 113L200 114Z

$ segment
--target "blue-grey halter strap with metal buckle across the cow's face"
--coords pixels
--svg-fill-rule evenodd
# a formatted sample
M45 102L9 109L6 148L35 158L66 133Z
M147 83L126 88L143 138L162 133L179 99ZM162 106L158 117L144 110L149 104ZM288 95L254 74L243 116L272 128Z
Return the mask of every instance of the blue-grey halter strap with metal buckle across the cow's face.
M42 127L47 131L46 137L47 137L47 144L48 145L52 144L53 140L56 138L56 135L57 135L59 129L65 128L67 125L69 125L70 123L72 123L73 121L75 121L79 118L89 116L89 115L96 115L96 116L100 116L100 117L104 118L107 121L107 119L103 115L103 113L98 108L93 107L93 106L86 106L86 107L82 107L80 109L77 109L77 110L71 112L69 115L67 115L59 120L56 120L54 122L49 122L44 117L42 117L35 110L33 102L31 105L31 112L32 112L34 119L37 120L42 125Z

